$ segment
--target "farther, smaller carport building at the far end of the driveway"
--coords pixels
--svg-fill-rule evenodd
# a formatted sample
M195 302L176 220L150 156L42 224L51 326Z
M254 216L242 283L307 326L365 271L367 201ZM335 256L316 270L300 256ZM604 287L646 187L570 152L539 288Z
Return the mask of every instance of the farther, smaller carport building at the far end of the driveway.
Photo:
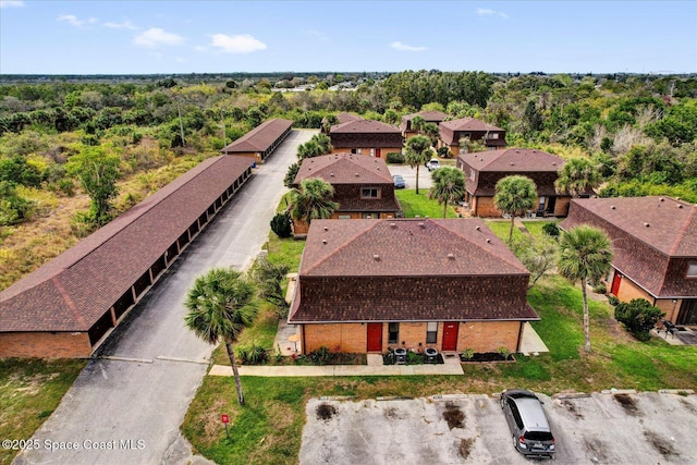
M291 120L274 118L273 120L259 124L220 150L220 152L223 155L250 157L254 158L255 161L262 163L291 133L292 125L293 122Z

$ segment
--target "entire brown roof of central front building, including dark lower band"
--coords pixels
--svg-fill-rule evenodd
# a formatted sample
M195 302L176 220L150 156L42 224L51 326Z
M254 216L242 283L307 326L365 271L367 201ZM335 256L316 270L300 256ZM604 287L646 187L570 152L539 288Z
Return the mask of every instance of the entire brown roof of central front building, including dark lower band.
M528 278L479 219L315 220L290 320L538 319Z

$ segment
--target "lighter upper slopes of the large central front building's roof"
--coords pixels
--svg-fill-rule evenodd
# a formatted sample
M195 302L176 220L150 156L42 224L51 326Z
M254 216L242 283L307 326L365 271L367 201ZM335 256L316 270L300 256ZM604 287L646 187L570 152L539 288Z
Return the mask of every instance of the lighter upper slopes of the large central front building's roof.
M529 274L480 219L315 220L307 235L299 273L309 277Z

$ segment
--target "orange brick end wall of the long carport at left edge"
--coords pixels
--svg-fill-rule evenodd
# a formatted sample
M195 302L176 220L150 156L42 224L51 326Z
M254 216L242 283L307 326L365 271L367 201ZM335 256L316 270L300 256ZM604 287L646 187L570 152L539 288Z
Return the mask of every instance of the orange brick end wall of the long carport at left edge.
M91 353L85 332L0 333L0 357L72 358Z

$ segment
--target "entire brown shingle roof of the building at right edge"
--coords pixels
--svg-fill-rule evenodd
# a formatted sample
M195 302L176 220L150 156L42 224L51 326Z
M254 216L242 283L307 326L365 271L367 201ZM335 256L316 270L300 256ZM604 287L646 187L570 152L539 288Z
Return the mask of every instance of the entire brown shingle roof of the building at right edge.
M579 224L606 231L613 266L652 295L697 295L697 281L685 277L697 260L697 206L656 196L573 199L560 225Z

